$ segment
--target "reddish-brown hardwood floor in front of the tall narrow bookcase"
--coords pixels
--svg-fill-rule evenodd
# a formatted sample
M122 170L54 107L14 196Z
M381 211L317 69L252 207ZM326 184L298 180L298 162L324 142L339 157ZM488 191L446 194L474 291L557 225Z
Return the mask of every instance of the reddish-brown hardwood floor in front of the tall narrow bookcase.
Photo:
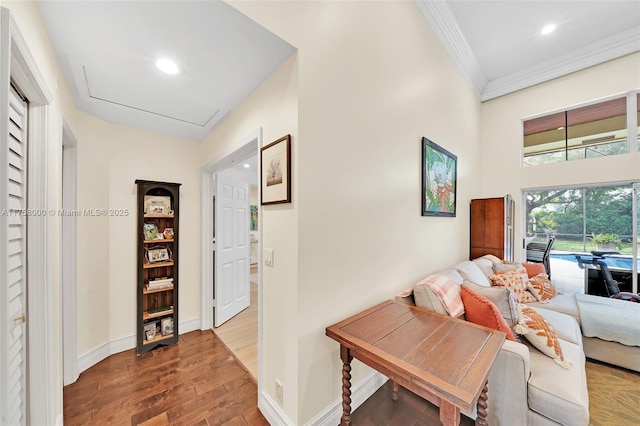
M64 388L69 425L268 425L255 382L211 330L112 355Z

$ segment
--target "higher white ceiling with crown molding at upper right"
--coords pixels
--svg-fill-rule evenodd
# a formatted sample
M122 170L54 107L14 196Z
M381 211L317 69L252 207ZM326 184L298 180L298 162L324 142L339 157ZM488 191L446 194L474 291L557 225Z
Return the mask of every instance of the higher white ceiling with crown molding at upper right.
M640 51L638 0L416 4L483 101Z

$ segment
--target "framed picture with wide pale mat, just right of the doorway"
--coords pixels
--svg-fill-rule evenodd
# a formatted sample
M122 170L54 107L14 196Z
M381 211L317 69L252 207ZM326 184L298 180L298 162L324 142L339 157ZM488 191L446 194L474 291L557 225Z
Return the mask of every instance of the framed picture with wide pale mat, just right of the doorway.
M291 202L291 135L260 149L260 204Z

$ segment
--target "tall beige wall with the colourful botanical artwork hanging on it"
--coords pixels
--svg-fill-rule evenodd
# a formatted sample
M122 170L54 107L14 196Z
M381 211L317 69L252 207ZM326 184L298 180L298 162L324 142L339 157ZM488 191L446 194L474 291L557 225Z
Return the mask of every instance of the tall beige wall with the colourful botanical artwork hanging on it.
M304 424L340 397L338 344L325 327L467 257L480 104L413 2L232 5L299 52L299 270L264 281L265 292L292 293L273 303L297 308L297 353L274 350L297 362L266 354L263 366L265 390L273 397L282 374L285 412ZM423 136L458 155L456 218L420 216ZM295 244L280 220L289 212L266 213L265 232ZM265 327L275 315L265 309ZM358 382L369 370L355 364Z

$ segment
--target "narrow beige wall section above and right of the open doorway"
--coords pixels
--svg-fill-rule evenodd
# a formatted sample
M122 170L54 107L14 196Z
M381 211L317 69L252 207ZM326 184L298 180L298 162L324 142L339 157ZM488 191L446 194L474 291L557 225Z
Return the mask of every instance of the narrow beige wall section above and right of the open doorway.
M285 383L283 409L295 418L298 327L298 55L293 54L202 143L201 165L220 160L262 128L263 144L291 135L291 204L263 206L263 247L274 250L274 266L263 266L264 388L275 400L275 380Z

